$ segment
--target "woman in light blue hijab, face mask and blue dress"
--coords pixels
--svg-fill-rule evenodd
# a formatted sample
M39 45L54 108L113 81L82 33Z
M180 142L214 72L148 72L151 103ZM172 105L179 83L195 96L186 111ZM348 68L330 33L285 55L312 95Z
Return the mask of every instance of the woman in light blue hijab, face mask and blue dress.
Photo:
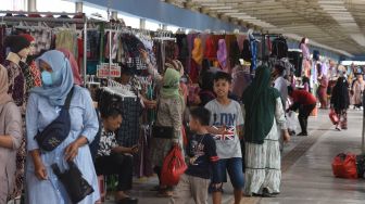
M98 179L93 168L88 143L98 132L99 123L89 92L74 86L71 64L65 55L56 50L48 51L36 60L41 71L42 87L30 90L26 112L27 166L26 197L29 204L68 204L72 203L60 180L51 169L52 164L61 171L68 168L66 161L74 161L83 177L93 188L81 204L96 203L99 200ZM65 103L66 95L74 87L68 110L71 131L56 149L40 151L34 137L53 122Z

